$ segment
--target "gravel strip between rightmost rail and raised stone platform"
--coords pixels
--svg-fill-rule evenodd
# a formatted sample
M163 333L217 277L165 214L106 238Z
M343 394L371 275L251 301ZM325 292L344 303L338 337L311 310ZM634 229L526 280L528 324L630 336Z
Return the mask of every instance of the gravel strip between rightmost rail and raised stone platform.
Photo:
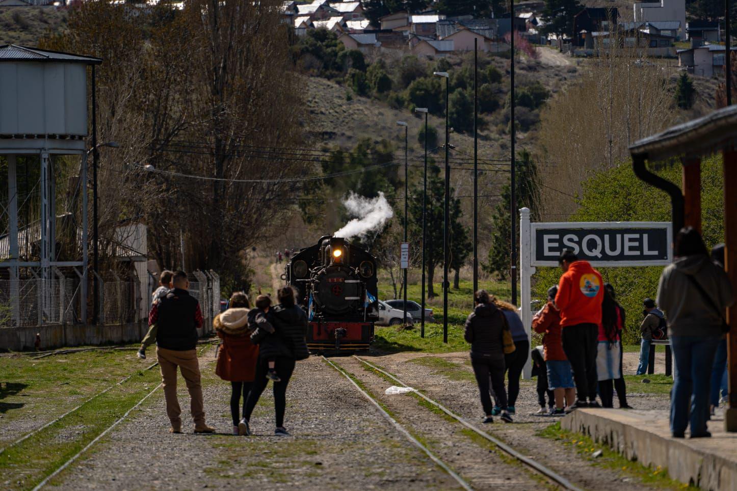
M427 355L398 353L390 356L367 357L366 359L393 373L406 384L416 389L423 389L430 398L439 401L449 409L466 417L469 421L478 423L483 417L483 411L481 410L478 388L475 383L464 380L450 380L441 370L411 361L413 358L422 358L423 356ZM447 353L436 356L456 364L460 370L472 372L471 367L466 363L468 359L466 353ZM638 409L663 409L663 417L668 417L667 395L632 394L632 404L636 404ZM603 467L592 467L584 459L581 459L573 449L537 436L538 431L554 423L556 418L539 417L532 414L539 408L535 381L522 381L516 407L517 414L514 415L514 424L505 425L496 419L494 425L485 425L483 428L583 488L596 490L647 488L616 471Z

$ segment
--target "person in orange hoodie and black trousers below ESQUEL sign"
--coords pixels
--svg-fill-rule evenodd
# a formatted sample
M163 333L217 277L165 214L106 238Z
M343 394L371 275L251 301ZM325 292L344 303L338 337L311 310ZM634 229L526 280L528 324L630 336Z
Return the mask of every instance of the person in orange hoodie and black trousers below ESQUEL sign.
M579 261L570 249L561 252L558 264L563 275L555 305L560 311L563 351L576 382L577 400L568 409L601 407L596 402L596 354L604 281L588 261Z

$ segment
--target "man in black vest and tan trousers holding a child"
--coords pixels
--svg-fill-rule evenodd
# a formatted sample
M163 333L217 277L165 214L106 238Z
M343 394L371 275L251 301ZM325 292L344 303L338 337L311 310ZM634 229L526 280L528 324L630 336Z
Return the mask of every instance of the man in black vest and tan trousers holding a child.
M167 402L167 415L172 423L171 433L181 433L181 409L177 398L177 368L181 371L189 391L195 433L214 433L205 423L205 405L202 397L200 364L197 359L197 330L202 328L200 303L189 295L186 272L175 272L172 290L161 302L153 305L148 325L158 323L156 356L161 367L161 383Z

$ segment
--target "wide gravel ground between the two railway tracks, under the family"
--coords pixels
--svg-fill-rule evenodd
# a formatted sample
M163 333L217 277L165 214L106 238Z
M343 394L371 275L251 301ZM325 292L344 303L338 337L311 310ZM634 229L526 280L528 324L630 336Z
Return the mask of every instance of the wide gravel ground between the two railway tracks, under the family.
M209 356L212 357L214 350ZM201 361L208 423L219 434L171 435L163 394L136 411L91 456L55 482L62 489L453 489L455 481L388 424L321 358L298 364L287 391L285 424L273 437L273 398L252 418L254 437L229 435L230 386ZM186 400L184 393L181 403ZM186 404L182 404L183 408ZM186 417L186 410L183 420ZM185 427L186 428L186 427Z

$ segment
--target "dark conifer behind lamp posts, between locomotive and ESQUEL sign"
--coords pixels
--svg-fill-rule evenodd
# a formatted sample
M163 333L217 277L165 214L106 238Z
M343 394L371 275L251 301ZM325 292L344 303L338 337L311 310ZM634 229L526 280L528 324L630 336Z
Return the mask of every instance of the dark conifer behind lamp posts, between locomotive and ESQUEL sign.
M422 239L422 183L412 189L413 199L410 202L410 224L413 227L412 235ZM451 268L458 266L456 261L465 261L468 257L469 246L466 241L467 230L461 225L461 201L453 198L453 188L450 191L450 256ZM443 264L443 210L445 199L445 182L440 175L440 168L434 163L427 165L427 214L425 216L425 233L427 234L427 247L425 249L425 262L427 267L427 297L435 297L433 280L435 269ZM464 236L465 233L465 236ZM422 242L421 242L422 244ZM465 254L465 255L464 255ZM458 266L460 267L460 266Z

